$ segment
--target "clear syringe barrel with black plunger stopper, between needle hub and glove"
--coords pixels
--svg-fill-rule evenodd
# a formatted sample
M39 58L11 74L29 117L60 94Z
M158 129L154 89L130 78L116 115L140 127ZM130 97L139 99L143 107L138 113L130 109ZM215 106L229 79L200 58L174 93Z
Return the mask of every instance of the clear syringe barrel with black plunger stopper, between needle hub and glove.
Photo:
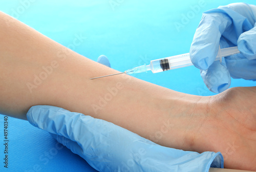
M180 67L186 67L193 65L189 53L181 54L172 57L166 57L162 59L152 60L151 61L151 70L153 73L176 69Z

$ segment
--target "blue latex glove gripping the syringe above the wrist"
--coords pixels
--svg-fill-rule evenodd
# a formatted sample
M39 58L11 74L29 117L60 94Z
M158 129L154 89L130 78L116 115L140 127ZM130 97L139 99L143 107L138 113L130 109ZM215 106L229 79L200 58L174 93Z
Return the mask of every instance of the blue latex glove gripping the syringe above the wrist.
M209 90L219 93L232 78L256 79L256 6L235 3L203 13L190 47L193 64ZM241 54L214 62L221 48L238 46Z

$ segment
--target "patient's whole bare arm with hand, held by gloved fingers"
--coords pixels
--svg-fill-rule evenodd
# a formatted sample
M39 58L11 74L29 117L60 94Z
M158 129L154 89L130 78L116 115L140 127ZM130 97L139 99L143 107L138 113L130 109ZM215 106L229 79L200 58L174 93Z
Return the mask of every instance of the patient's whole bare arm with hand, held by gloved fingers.
M203 97L128 75L89 80L118 71L4 13L0 26L0 113L26 119L33 105L58 106L113 122L164 146L220 151L229 168L256 168L255 88ZM245 104L243 116L236 101ZM227 143L238 145L237 151L225 154Z

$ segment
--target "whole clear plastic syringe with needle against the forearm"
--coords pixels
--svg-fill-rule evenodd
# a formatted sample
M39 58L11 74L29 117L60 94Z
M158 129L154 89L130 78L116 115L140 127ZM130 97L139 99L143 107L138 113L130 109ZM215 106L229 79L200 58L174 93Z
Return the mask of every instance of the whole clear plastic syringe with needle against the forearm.
M240 51L238 50L237 46L233 47L228 47L228 48L219 48L219 52L216 57L217 60L222 60L222 57L227 57L231 56L234 54L239 54ZM108 77L108 76L113 76L113 75L119 75L121 73L126 73L126 74L133 74L133 73L141 73L141 72L146 72L147 70L151 70L153 73L161 72L161 71L166 71L170 69L177 69L181 67L186 67L186 66L191 66L193 63L190 60L189 53L186 54L181 54L177 56L171 56L171 57L166 57L162 59L157 59L157 60L151 60L149 65L142 65L138 67L134 67L132 69L125 70L124 72L120 73L115 73L112 75L107 75L107 76L102 76L102 77ZM96 78L102 78L102 77L96 77ZM91 78L96 79L96 78Z

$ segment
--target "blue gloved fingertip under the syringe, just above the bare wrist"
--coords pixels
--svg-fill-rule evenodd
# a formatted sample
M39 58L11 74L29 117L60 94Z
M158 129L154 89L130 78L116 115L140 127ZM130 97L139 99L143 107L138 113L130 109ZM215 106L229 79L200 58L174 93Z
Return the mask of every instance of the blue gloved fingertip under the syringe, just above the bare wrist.
M208 69L200 71L201 77L210 91L220 93L229 88L231 82L229 71L219 61L212 63Z

